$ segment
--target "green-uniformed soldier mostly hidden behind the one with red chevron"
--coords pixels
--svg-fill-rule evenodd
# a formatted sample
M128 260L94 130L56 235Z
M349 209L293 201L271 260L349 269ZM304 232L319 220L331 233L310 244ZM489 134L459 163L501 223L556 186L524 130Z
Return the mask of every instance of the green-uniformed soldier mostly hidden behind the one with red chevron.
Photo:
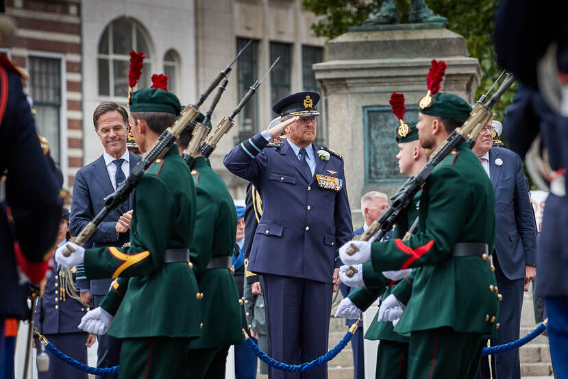
M400 172L406 176L413 176L420 171L426 162L424 149L420 147L416 122L402 123L396 130L396 141L399 153L396 158L399 162ZM410 225L418 217L418 205L420 193L417 193L412 204L406 210L406 215L401 217L397 224L393 239L403 239ZM377 273L373 271L371 262L356 265L358 275L345 276L349 266L343 266L339 270L341 282L349 286L359 286L351 292L347 299L343 299L338 306L336 317L359 317L362 310L367 310L375 300L382 295L385 299L393 292L393 285L399 278L406 280L409 270L397 271L397 273ZM354 306L356 308L354 308ZM371 326L365 334L365 339L372 341L380 340L377 351L377 366L375 378L377 379L402 379L406 378L408 365L408 337L393 331L392 321L380 321L379 314L375 315Z

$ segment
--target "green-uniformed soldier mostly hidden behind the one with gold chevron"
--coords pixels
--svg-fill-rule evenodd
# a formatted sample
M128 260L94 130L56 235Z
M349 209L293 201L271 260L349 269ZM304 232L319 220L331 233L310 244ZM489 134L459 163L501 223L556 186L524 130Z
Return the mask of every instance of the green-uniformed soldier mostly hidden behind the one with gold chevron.
M197 121L203 119L200 114ZM194 126L188 125L177 140L180 152L188 146ZM203 328L200 338L191 341L184 377L223 379L230 345L245 342L239 304L242 300L232 268L236 210L227 186L211 169L209 160L198 156L191 176L197 191L191 262L201 291Z

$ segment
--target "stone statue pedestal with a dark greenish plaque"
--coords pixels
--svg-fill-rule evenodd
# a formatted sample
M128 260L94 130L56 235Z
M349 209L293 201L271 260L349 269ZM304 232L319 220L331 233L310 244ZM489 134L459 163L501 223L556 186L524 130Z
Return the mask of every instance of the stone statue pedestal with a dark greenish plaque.
M443 92L473 103L482 75L479 62L467 57L464 38L447 29L347 32L330 40L328 60L313 66L326 103L326 141L343 154L357 228L364 193L393 195L404 182L395 158L398 122L388 100L393 92L404 93L405 119L416 121L433 58L447 63Z

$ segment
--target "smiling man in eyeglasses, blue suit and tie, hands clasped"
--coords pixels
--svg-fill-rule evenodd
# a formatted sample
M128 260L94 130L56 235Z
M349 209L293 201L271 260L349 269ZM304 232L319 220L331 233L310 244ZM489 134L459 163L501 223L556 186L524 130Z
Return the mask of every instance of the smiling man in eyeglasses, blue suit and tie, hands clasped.
M73 184L71 204L71 235L76 236L103 208L104 198L123 182L130 169L138 163L139 156L126 148L129 130L128 113L116 103L106 101L95 109L92 117L95 132L101 139L103 154L94 162L77 171ZM134 193L125 203L111 210L97 227L86 247L118 246L129 241L132 222L132 200ZM86 280L83 265L77 265L77 287L84 304L96 308L108 292L112 279ZM92 297L92 299L91 299ZM97 367L112 367L119 364L120 341L108 334L99 338ZM99 378L99 376L97 376ZM100 377L103 378L103 377ZM116 376L104 376L116 378Z

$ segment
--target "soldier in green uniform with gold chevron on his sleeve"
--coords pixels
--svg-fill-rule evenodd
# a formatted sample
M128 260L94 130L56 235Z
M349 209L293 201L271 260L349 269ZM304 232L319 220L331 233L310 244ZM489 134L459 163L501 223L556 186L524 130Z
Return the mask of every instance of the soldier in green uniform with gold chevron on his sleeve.
M180 113L180 101L158 88L132 94L130 124L147 151ZM122 339L119 378L181 378L190 341L200 335L199 289L189 262L196 213L195 186L187 164L171 147L140 179L134 195L130 247L84 249L55 259L71 268L85 263L90 279L119 278L79 327ZM106 309L106 310L105 310ZM116 316L113 317L116 313Z

